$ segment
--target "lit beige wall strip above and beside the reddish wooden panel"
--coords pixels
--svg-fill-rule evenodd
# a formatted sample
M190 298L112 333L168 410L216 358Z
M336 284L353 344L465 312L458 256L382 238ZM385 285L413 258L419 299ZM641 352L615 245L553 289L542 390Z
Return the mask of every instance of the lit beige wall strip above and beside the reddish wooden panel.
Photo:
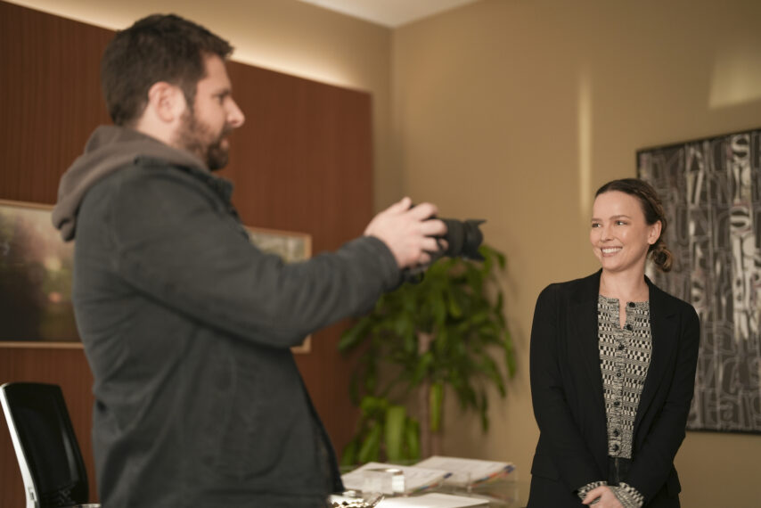
M107 29L176 12L227 38L233 60L370 92L375 208L401 197L399 168L389 162L390 29L296 0L7 1Z

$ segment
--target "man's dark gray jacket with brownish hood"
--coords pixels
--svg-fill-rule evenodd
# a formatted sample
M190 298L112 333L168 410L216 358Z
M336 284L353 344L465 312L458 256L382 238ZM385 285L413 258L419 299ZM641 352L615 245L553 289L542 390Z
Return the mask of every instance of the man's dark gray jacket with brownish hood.
M120 127L99 127L61 180L105 508L317 506L340 487L289 348L400 272L371 237L284 265L251 245L231 191Z

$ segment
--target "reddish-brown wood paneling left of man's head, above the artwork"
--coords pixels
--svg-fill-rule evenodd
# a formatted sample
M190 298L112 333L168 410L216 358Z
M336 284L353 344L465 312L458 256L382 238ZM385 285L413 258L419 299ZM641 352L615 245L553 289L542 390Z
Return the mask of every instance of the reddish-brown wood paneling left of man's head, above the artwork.
M0 2L0 198L53 204L94 126L113 32Z

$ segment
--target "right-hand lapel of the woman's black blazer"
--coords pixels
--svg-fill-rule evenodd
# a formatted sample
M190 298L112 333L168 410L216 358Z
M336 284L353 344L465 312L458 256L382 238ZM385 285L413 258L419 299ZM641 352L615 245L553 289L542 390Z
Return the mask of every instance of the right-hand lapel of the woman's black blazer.
M665 293L651 283L650 279L647 277L645 279L650 287L652 356L640 397L640 405L637 408L637 416L634 420L634 430L639 426L643 415L658 393L663 376L667 373L668 365L672 364L671 357L674 355L676 347L675 309L668 305Z

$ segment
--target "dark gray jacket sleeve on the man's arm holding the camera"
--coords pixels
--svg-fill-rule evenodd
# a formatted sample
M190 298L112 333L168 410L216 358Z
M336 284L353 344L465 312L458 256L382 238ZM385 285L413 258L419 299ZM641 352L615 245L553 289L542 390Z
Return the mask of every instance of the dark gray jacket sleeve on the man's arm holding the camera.
M204 184L136 168L110 196L113 266L135 291L201 323L277 347L372 307L400 272L377 238L284 264L254 247Z

